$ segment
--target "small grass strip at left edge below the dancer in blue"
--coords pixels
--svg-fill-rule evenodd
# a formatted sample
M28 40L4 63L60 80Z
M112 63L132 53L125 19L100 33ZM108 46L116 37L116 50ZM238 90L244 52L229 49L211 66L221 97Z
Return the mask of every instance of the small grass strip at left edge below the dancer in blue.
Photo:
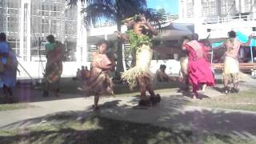
M34 107L28 103L11 103L11 104L0 104L0 111L4 110L17 110L17 109L27 109Z

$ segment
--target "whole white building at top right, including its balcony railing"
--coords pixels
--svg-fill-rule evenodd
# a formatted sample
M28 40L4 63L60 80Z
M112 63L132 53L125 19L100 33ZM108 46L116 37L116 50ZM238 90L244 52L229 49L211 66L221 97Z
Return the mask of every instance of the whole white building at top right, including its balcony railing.
M179 18L194 24L200 38L226 38L230 30L255 34L255 0L179 0Z

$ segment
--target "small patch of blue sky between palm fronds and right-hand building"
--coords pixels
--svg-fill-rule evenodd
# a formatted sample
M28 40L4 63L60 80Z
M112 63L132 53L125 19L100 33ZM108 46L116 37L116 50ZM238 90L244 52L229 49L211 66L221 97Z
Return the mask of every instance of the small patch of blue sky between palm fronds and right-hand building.
M178 14L178 0L147 0L147 6L156 10L164 8L167 13Z

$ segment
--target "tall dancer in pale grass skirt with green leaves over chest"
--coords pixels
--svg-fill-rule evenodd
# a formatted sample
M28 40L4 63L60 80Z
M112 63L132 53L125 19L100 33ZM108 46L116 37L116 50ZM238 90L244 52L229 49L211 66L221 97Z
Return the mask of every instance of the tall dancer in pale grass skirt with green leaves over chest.
M126 19L125 24L129 28L127 34L118 32L117 35L130 43L130 52L136 55L136 64L122 74L122 79L130 84L131 89L137 84L140 86L139 106L154 105L160 102L161 98L159 94L154 94L154 74L150 72L153 50L150 47L152 46L152 37L158 34L158 30L155 30L142 14ZM150 93L150 99L146 97L146 90Z

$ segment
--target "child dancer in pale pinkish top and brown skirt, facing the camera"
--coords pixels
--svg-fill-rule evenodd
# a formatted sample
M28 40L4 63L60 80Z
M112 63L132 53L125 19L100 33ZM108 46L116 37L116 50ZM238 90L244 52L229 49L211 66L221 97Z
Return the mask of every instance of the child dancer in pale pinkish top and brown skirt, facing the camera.
M106 56L107 42L102 40L98 42L98 51L93 54L93 62L90 69L90 79L87 82L86 92L94 93L94 110L98 110L98 100L102 95L113 95L113 83L108 76L110 70L114 70L114 66L110 59Z

